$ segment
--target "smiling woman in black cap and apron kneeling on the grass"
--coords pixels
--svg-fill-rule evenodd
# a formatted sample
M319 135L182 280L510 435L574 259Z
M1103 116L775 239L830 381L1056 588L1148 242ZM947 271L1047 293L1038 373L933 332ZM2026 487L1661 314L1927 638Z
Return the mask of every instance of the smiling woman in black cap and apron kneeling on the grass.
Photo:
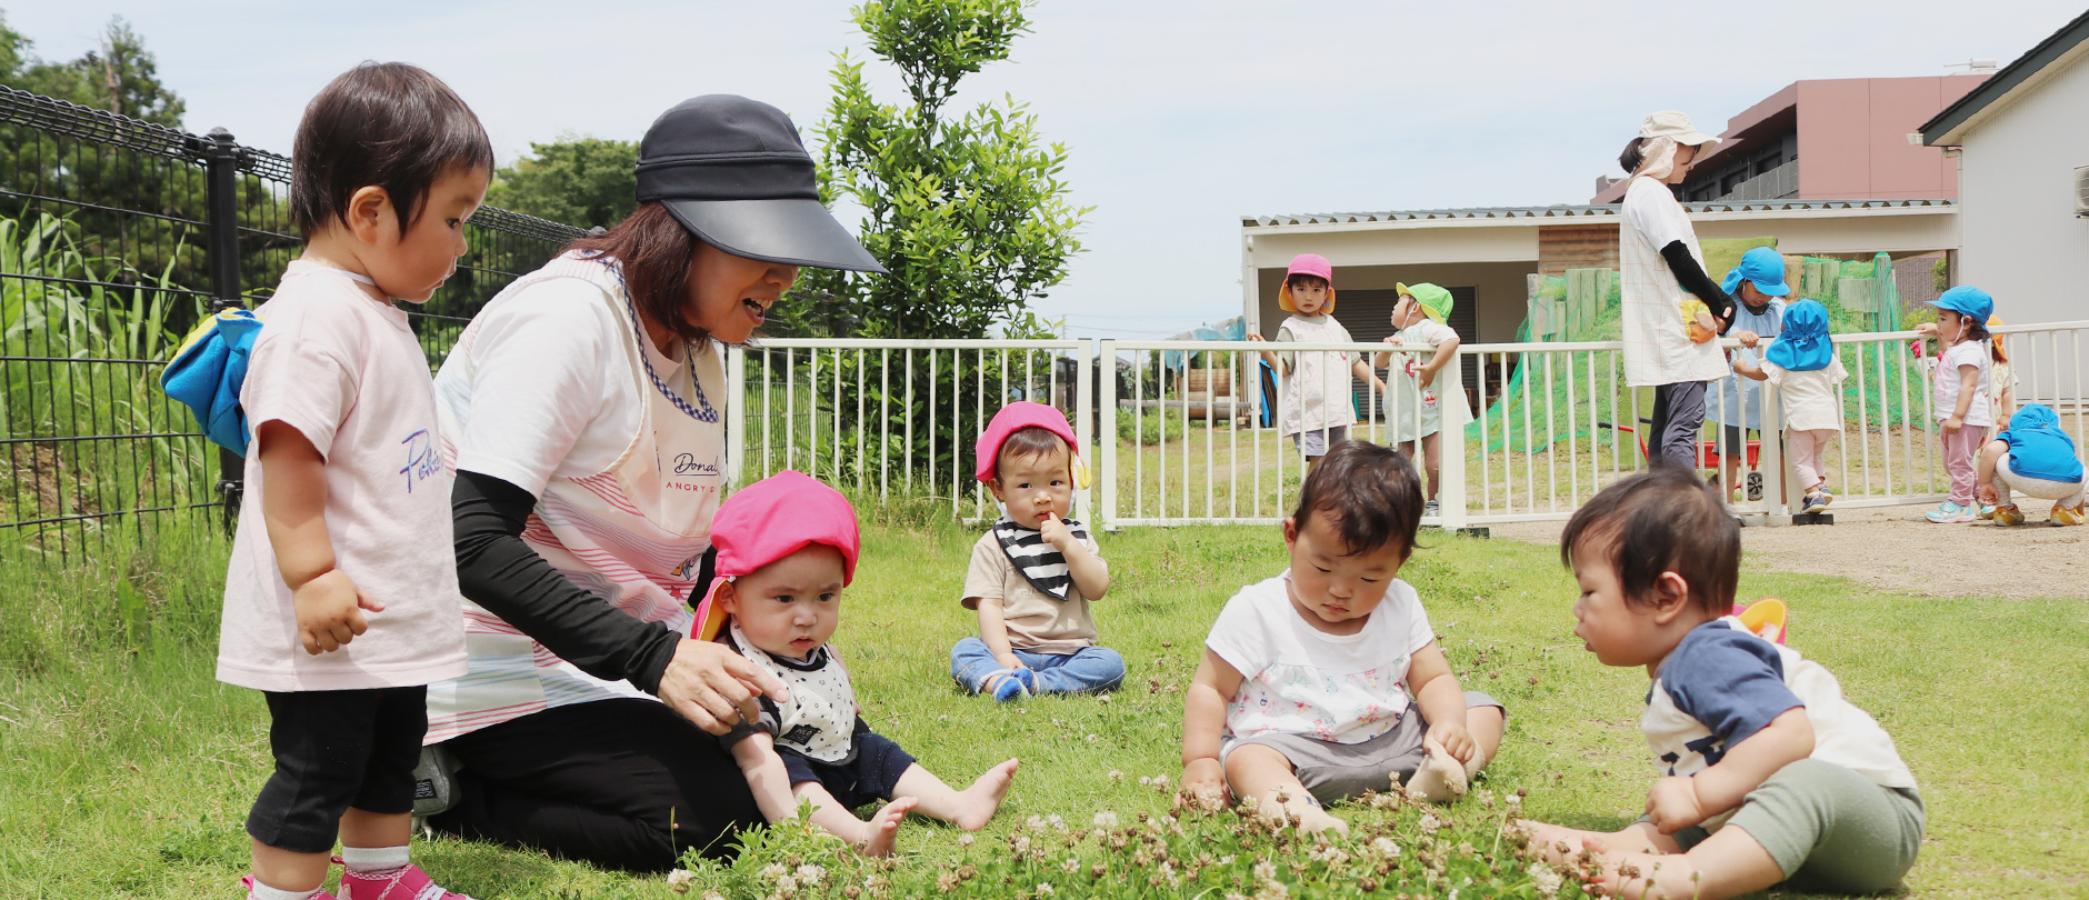
M449 802L437 829L664 869L760 825L712 735L781 691L687 639L725 491L719 345L748 340L800 265L884 269L754 100L654 121L637 198L495 297L437 376L470 674L428 689L447 758L422 771Z

